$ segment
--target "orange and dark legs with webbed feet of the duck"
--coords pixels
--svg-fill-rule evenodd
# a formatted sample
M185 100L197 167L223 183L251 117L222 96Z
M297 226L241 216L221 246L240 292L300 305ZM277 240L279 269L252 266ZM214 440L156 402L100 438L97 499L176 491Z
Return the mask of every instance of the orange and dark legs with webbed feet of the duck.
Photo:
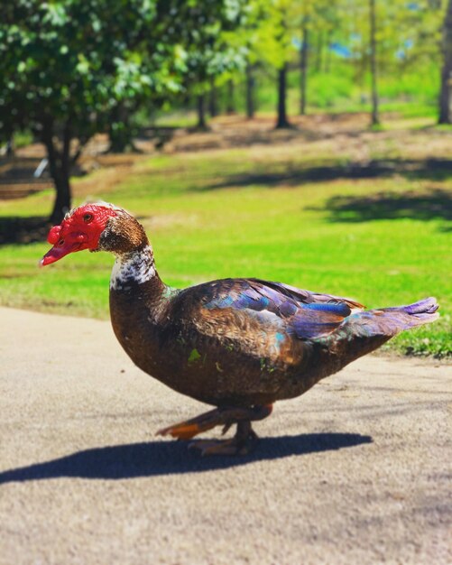
M231 440L195 440L189 447L199 449L202 455L245 455L254 448L258 439L251 427L251 421L263 420L271 413L272 404L253 408L217 408L157 433L163 436L171 435L178 440L191 440L199 433L212 430L216 426L223 426L223 433L226 433L233 424L237 424L237 431Z

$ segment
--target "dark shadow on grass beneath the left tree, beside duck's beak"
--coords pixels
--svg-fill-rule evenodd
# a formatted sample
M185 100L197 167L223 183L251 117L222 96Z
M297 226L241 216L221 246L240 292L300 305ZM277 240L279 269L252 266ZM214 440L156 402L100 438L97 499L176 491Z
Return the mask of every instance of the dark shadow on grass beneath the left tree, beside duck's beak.
M0 218L0 245L44 242L50 228L49 218L43 216Z

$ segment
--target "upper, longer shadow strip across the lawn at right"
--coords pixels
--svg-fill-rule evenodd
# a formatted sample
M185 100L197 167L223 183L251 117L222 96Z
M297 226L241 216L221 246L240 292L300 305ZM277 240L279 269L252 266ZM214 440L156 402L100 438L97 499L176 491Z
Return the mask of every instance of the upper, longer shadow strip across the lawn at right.
M410 161L392 159L370 162L325 163L315 167L300 167L299 163L287 163L281 172L249 172L227 176L225 180L198 188L219 190L230 187L260 185L263 187L297 186L304 182L326 182L338 179L378 179L401 175L412 180L446 181L452 177L452 160L426 159Z

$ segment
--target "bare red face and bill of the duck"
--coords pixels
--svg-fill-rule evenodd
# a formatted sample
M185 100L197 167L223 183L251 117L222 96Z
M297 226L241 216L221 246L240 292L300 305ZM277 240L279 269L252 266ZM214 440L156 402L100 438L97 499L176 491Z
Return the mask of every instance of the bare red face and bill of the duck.
M75 251L97 249L108 218L114 216L114 208L100 204L85 204L76 208L63 219L60 226L51 228L47 241L53 247L42 257L40 265L55 263Z

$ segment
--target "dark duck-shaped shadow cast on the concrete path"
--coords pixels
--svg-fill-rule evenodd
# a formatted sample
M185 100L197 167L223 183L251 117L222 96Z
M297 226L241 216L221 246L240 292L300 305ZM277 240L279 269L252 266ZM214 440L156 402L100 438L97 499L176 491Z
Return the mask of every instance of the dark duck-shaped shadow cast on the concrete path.
M86 449L62 458L0 473L0 484L60 477L125 479L200 473L247 465L255 461L308 455L371 443L370 436L357 433L309 433L264 438L254 453L244 457L201 458L187 449L186 442L150 441Z

